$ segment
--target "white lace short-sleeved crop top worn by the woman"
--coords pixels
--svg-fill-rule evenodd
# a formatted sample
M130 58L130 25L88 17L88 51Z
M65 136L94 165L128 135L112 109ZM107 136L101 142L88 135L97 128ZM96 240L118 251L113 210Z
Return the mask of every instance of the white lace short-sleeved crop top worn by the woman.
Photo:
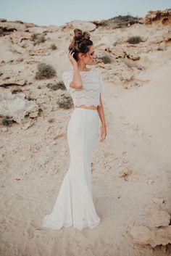
M105 89L98 68L92 66L89 71L80 71L80 76L83 81L83 88L81 90L75 90L75 88L70 87L73 70L62 73L64 86L70 92L74 105L77 107L80 105L100 105L100 93L104 94Z

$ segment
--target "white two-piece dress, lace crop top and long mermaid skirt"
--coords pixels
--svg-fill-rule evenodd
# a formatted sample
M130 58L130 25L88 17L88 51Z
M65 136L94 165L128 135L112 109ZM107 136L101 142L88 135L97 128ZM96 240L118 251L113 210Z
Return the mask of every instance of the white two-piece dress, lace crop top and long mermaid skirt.
M99 134L100 118L97 110L79 108L100 105L100 93L104 93L104 83L96 67L80 72L83 88L70 87L73 70L62 74L64 86L70 92L75 109L67 125L67 141L70 149L70 167L64 176L54 208L43 218L43 227L60 229L63 226L94 228L101 218L93 205L91 184L91 161L93 147Z

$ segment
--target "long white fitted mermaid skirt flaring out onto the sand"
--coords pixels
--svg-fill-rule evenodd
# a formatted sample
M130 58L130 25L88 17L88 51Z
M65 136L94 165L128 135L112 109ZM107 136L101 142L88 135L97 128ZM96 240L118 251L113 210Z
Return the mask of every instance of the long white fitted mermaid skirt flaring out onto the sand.
M43 227L60 229L62 226L94 228L100 218L93 205L91 161L93 147L99 134L97 110L75 108L67 126L70 167L64 176L51 214L43 218Z

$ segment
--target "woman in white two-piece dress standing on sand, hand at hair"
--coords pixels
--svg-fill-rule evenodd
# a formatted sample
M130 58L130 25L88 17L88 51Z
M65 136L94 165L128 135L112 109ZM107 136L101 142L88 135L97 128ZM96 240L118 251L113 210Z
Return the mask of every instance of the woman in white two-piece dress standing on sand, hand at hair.
M62 74L64 85L75 105L67 126L70 167L51 214L43 219L43 226L54 229L73 226L82 230L98 226L101 220L93 205L91 160L99 133L99 117L101 141L107 136L107 128L101 99L104 85L99 70L86 67L92 66L95 59L90 33L83 33L78 28L74 33L68 53L72 70Z

